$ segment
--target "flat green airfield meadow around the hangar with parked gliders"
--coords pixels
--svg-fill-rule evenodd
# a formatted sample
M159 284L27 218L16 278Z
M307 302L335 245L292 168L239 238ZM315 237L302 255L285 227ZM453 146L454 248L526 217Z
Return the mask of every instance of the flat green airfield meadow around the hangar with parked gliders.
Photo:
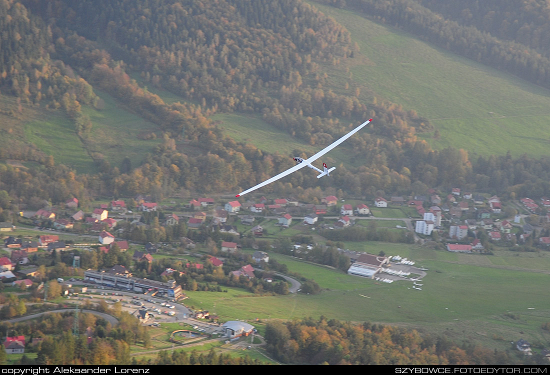
M550 273L549 253L479 256L383 242L344 245L350 250L383 251L416 261L418 266L429 269L422 280L423 290L411 289L410 282L377 283L271 252L270 258L287 264L289 271L315 279L323 292L266 297L254 297L240 290L190 292L191 299L186 302L215 311L225 319L324 315L416 328L501 350L519 337L544 345L550 343L550 333L541 329L542 323L550 322L546 303L550 290L543 287Z

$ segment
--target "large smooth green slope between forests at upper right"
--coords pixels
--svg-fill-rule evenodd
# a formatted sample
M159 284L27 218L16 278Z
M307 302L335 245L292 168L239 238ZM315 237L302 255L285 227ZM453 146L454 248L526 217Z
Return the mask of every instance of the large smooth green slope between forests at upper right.
M335 92L352 95L359 87L365 102L376 96L417 111L440 130L441 139L428 136L436 148L547 155L550 91L360 14L312 4L344 25L361 49L355 59L344 61L351 78L345 70L330 70Z

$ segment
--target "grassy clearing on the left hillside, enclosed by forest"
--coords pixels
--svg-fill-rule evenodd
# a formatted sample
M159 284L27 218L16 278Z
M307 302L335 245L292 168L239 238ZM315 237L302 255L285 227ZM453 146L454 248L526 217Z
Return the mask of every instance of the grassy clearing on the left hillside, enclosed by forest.
M0 131L3 147L31 146L53 155L56 163L63 163L79 173L95 172L92 155L101 153L113 167L120 167L124 157L130 157L134 167L139 166L147 152L160 143L159 139L145 140L157 126L119 106L113 97L95 91L105 102L101 110L83 106L93 124L90 136L81 140L75 125L62 111L22 104L21 111L14 97L0 95ZM12 111L12 115L9 115Z

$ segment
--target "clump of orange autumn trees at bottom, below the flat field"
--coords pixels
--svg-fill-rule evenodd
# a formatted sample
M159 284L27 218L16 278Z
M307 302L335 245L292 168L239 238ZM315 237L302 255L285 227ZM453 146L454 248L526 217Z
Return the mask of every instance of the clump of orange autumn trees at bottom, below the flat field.
M301 365L513 365L507 352L456 343L416 330L321 317L270 322L265 338L279 361ZM541 361L542 358L533 363ZM525 363L525 362L523 362Z

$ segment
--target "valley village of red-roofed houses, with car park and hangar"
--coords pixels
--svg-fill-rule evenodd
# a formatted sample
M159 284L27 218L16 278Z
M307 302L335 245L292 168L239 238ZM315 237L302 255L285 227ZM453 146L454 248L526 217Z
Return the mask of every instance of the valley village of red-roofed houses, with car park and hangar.
M298 280L279 274L284 274L284 268L270 264L270 253L286 252L315 262L311 253L314 248L328 249L326 240L332 233L383 231L392 233L390 241L460 253L541 251L550 246L547 197L505 201L457 188L443 199L442 195L433 189L427 195L379 196L373 201L332 195L315 203L265 197L255 201L199 197L178 203L175 198L153 202L150 197L135 196L90 209L81 209L78 199L71 198L63 206L21 211L17 220L0 225L2 289L32 290L44 301L120 302L151 327L185 319L193 319L192 326L203 320L222 327L215 314L186 307L185 291L201 290L206 281L207 285L212 282L210 288L218 284L219 291L220 286L232 285L260 294L313 293ZM288 232L293 235L281 240L281 234ZM325 243L320 242L323 238ZM343 272L386 283L412 281L412 289L422 290L420 282L427 270L414 267L414 261L335 248L340 263L344 260L339 267ZM175 257L165 258L166 254ZM47 266L51 258L57 266ZM47 289L56 283L62 288L57 295L47 296ZM146 295L145 302L139 295ZM131 304L124 302L128 296L133 296ZM90 300L77 302L83 297ZM163 309L147 302L158 306L162 302ZM3 308L2 318L24 315L20 312ZM245 322L227 324L248 324L247 335L254 329ZM10 354L21 353L24 338L8 337L4 346ZM526 350L524 344L522 348Z

